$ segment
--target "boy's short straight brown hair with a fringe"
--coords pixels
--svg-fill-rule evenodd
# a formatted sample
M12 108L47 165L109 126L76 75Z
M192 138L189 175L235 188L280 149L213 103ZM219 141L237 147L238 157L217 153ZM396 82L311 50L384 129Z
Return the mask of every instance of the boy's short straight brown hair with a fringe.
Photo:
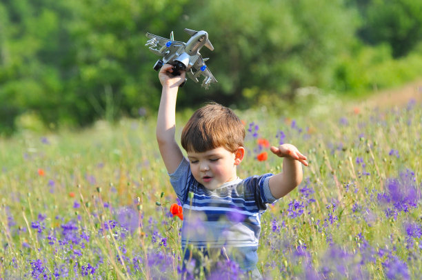
M243 146L245 128L234 112L218 103L199 108L181 134L181 146L186 151L206 152L223 147L235 152Z

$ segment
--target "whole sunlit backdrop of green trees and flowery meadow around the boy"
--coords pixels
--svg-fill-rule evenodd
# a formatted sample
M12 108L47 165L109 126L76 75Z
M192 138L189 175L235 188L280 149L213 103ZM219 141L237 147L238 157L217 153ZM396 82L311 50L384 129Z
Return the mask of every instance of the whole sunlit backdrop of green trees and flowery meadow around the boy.
M1 0L0 279L179 279L146 32L214 46L209 90L245 124L241 178L308 157L262 215L264 279L422 279L422 1ZM237 279L232 260L210 279ZM188 277L189 279L189 277ZM204 279L204 277L202 278Z

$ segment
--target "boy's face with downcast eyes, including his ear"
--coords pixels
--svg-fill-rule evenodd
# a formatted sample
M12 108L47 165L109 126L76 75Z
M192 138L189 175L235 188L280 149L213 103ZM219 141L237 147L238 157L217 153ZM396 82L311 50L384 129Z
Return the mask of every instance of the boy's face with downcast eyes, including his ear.
M230 152L223 147L206 152L188 152L193 177L208 190L215 190L223 183L237 179L236 166L241 163L245 148Z

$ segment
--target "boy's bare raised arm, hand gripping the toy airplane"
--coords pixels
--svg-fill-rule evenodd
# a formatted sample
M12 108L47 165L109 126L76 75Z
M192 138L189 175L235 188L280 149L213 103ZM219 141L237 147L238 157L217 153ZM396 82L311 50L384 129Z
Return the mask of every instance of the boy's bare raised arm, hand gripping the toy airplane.
M155 130L161 157L170 174L177 170L183 159L183 154L176 139L174 139L174 134L176 132L177 91L181 83L185 81L185 72L181 72L181 75L176 77L172 76L171 72L172 66L170 64L165 64L159 72L163 91L161 92L157 128Z

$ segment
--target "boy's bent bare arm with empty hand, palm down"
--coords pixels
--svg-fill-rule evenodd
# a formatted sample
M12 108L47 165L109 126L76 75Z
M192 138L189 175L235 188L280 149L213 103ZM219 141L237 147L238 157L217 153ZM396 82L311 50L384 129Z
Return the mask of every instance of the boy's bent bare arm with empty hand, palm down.
M283 159L283 171L270 177L270 191L274 198L284 197L302 181L302 166L308 166L306 157L291 144L283 144L278 148L272 146L271 152Z

